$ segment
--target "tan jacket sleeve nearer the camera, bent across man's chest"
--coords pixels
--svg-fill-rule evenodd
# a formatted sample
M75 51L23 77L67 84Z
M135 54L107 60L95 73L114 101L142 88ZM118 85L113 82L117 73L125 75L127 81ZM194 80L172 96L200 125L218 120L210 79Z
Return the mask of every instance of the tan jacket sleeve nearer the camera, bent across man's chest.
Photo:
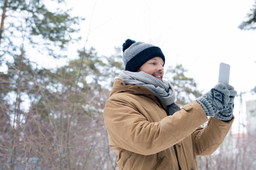
M110 145L134 153L150 155L165 150L191 135L208 120L202 107L192 102L173 116L159 122L149 122L134 107L135 102L138 103L115 97L109 99L104 108Z

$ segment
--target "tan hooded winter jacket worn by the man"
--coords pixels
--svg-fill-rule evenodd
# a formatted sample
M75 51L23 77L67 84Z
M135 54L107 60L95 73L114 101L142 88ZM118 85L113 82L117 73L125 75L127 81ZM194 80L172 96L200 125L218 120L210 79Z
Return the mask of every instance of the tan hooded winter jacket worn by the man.
M118 170L197 170L196 155L213 153L234 120L208 119L195 101L172 116L166 109L150 90L115 79L104 121Z

